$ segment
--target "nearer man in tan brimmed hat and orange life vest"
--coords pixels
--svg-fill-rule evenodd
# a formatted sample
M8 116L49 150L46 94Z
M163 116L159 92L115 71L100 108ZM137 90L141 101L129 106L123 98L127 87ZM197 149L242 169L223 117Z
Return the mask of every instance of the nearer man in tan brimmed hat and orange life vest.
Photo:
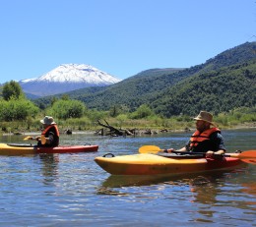
M176 151L205 152L206 157L224 154L224 138L221 130L213 122L213 115L206 111L200 111L194 120L196 120L196 132L184 147ZM167 149L169 153L173 150L173 148Z

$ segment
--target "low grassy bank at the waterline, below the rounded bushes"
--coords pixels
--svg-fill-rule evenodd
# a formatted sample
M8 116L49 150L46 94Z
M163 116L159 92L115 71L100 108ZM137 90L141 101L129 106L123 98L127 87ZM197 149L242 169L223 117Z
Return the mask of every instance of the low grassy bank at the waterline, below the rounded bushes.
M185 118L185 120L184 120ZM226 117L227 118L227 117ZM255 117L256 118L256 117ZM256 119L249 121L237 121L225 119L222 121L222 117L216 118L215 123L222 130L232 129L256 129ZM58 124L60 134L68 133L89 133L96 134L103 127L98 125L97 122L90 122L88 118L80 119L67 119L59 120L54 119ZM218 121L221 120L221 121ZM137 119L137 120L119 120L116 118L108 118L100 120L100 122L109 124L111 127L120 131L133 132L136 135L142 134L160 134L165 132L190 132L195 130L195 121L192 118L171 118L171 119ZM28 134L39 134L41 132L41 124L38 120L30 121L12 121L12 122L0 122L2 135L28 135ZM104 129L107 130L107 129ZM99 135L99 134L98 134Z

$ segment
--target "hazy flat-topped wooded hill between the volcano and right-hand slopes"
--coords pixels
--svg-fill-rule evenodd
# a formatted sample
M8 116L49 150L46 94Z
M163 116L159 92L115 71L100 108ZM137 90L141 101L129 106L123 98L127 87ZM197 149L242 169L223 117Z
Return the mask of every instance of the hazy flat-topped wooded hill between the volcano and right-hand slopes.
M156 96L163 87L174 85L187 76L181 69L147 70L115 85L83 88L66 94L72 99L85 102L89 108L108 110L113 105L125 105L129 110L134 110L147 102L150 96ZM39 98L35 103L40 106L47 105L52 97Z

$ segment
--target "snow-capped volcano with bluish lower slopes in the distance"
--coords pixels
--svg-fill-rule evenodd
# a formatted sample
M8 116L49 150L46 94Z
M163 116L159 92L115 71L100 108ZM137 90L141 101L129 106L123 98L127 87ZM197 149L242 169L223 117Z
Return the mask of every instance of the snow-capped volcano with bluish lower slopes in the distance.
M39 78L20 81L24 92L46 96L88 86L112 85L119 79L85 64L63 64Z

